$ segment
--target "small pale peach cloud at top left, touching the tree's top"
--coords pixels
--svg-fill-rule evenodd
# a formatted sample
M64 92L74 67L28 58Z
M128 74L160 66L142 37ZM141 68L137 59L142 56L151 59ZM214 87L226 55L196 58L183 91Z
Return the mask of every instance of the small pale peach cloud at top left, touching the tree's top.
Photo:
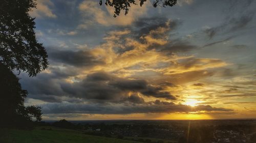
M54 7L54 4L50 0L40 0L36 1L36 9L33 9L30 12L32 17L42 18L42 17L49 17L49 18L56 18L57 16L52 12L50 7Z

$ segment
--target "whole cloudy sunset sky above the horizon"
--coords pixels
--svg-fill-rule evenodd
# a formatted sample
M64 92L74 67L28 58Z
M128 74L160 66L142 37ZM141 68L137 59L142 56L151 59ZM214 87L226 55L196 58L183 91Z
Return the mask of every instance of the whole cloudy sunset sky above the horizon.
M256 1L37 3L49 67L18 76L43 120L256 118Z

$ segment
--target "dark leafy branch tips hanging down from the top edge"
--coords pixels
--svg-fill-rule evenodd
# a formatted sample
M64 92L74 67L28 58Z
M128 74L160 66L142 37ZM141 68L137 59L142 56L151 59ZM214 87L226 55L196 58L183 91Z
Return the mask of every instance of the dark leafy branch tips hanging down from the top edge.
M146 2L146 0L139 0L140 6ZM99 5L102 5L102 0L99 1ZM114 17L120 14L120 12L123 10L124 14L126 15L129 12L129 8L132 5L137 5L135 0L105 0L105 5L114 7L115 8L115 14ZM154 0L153 6L156 8L157 6L161 7L173 7L175 4L177 4L177 0Z

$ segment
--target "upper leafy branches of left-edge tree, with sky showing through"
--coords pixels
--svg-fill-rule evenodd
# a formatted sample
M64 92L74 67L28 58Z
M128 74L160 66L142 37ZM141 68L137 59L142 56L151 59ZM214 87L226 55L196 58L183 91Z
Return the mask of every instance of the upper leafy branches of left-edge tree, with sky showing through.
M35 37L35 22L28 12L34 0L2 0L0 5L0 63L29 76L48 66L47 52Z

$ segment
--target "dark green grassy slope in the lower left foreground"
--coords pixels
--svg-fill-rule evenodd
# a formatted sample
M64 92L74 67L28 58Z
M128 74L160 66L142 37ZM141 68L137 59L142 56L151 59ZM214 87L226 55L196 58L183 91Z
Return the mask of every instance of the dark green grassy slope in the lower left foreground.
M6 130L1 135L1 143L139 143L138 141L117 138L86 135L79 131L52 128L41 130L40 127L32 131Z

